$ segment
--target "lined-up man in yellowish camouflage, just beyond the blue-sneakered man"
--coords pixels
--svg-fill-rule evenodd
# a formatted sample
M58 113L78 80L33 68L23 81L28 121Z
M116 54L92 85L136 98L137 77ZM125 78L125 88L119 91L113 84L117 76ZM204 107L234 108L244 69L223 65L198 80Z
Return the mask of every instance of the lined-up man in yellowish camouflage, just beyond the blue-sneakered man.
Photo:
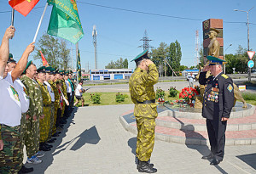
M51 115L51 98L49 95L49 92L47 90L47 86L44 85L44 81L46 78L45 74L45 66L41 66L38 68L38 84L42 93L43 97L43 113L44 113L44 118L40 120L40 145L39 149L50 149L52 148L52 145L49 145L46 143L49 135L49 121L50 121L50 115Z

